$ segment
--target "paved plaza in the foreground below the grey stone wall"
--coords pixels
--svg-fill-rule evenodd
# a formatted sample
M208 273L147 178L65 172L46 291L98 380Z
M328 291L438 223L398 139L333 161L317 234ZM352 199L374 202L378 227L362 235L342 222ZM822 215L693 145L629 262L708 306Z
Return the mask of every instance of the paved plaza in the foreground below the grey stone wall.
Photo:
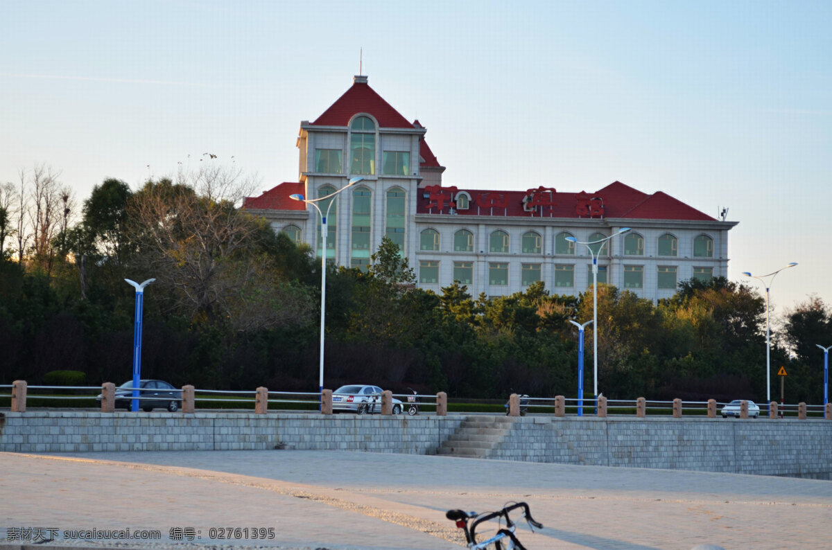
M832 482L813 479L268 450L0 453L0 484L0 538L3 527L16 538L26 528L129 528L158 530L165 547L178 548L461 548L449 508L522 500L545 526L518 525L530 550L832 545ZM252 540L245 528L274 531ZM72 542L85 544L161 546Z

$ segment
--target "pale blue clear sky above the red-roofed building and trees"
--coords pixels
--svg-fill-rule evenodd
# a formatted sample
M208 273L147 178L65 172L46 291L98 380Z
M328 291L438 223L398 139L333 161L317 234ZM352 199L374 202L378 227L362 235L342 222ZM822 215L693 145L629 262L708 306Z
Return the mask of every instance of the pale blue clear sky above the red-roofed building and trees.
M301 120L360 62L444 184L728 209L731 280L799 264L771 285L782 313L832 303L830 28L810 0L0 0L0 183L47 165L80 204L206 153L258 193L297 181Z

